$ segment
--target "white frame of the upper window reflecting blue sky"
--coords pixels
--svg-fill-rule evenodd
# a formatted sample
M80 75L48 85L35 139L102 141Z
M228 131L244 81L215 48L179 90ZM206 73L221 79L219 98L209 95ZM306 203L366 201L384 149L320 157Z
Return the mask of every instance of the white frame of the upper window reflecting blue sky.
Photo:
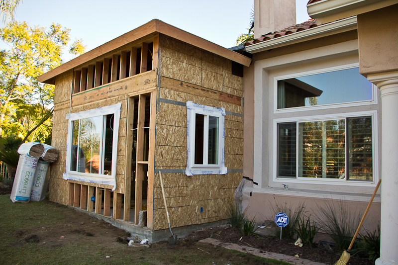
M358 68L359 63L341 65L336 67L329 67L323 69L317 69L313 71L301 72L298 74L290 74L285 76L277 76L274 77L274 113L286 113L286 112L298 112L298 111L308 111L308 110L316 110L316 109L327 109L327 108L340 108L340 107L353 107L353 106L363 106L363 105L373 105L378 103L377 96L377 87L372 84L372 97L371 100L358 100L358 101L350 101L343 103L331 103L331 104L323 104L323 105L314 105L314 106L300 106L300 107L291 107L291 108L282 108L278 109L278 81L283 81L285 79L290 78L298 78L316 74L323 74L329 72L335 72L340 70L347 70L352 68Z

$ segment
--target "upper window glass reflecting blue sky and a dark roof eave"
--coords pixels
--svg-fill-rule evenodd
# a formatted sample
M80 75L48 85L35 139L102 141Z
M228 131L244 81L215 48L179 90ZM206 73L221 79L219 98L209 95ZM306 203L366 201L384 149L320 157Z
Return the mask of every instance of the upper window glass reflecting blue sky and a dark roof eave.
M359 74L357 67L282 77L276 79L276 110L369 104L376 98L375 90L372 83Z

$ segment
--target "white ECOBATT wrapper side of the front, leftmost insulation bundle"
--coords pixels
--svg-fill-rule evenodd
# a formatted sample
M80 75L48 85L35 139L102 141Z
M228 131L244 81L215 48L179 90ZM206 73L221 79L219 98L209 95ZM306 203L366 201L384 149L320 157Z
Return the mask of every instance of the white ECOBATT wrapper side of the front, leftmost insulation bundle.
M20 155L10 199L12 202L29 202L37 158Z

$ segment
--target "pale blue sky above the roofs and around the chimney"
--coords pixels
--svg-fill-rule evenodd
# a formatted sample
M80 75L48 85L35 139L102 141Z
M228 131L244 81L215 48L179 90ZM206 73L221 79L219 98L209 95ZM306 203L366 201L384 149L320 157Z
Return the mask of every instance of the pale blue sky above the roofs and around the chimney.
M297 23L309 18L307 1L296 0ZM253 0L24 0L16 20L43 27L59 23L71 29L72 41L83 39L86 51L154 18L229 48L247 32L252 6Z

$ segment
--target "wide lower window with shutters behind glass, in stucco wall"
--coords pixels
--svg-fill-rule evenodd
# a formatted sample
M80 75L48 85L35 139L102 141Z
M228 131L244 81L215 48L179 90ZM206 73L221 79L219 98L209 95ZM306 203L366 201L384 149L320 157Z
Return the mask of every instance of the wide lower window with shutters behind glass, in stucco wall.
M374 182L376 111L355 114L276 120L277 177Z

